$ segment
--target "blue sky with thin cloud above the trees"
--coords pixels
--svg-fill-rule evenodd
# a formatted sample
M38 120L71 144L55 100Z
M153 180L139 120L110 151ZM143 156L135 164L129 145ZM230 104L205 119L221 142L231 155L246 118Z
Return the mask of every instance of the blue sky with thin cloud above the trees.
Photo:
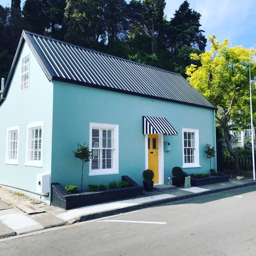
M129 2L129 0L126 0ZM166 0L167 20L184 0ZM232 46L252 48L256 44L255 0L188 0L190 8L201 14L201 29L206 38L216 35L222 42L228 38ZM2 6L10 6L11 0L0 0ZM21 1L23 6L24 0ZM209 46L206 47L209 50Z

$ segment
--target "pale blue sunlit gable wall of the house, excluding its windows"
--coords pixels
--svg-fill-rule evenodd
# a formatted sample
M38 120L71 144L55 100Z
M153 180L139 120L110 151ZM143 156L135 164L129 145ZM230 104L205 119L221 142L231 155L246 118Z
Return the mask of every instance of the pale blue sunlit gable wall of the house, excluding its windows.
M30 54L29 88L20 92L21 60ZM24 43L6 100L0 106L0 184L36 192L36 175L51 172L52 82ZM42 167L26 166L26 132L31 123L43 122ZM6 164L7 129L18 126L18 164ZM35 195L33 195L35 197ZM49 198L46 198L46 201Z

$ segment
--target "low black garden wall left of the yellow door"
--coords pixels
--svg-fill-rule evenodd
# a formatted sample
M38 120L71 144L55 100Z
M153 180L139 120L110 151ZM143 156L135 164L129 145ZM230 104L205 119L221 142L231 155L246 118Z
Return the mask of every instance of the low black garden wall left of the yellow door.
M139 186L130 177L122 176L122 181L129 182L130 187L96 192L81 192L78 194L68 194L59 183L52 183L51 202L53 206L68 210L80 206L100 204L142 195L143 187Z

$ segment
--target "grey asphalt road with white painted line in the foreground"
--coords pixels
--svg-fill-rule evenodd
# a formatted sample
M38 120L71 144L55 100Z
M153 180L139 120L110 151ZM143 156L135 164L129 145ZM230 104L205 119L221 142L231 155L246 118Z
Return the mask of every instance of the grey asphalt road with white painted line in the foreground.
M255 256L254 190L226 191L3 239L0 255Z

